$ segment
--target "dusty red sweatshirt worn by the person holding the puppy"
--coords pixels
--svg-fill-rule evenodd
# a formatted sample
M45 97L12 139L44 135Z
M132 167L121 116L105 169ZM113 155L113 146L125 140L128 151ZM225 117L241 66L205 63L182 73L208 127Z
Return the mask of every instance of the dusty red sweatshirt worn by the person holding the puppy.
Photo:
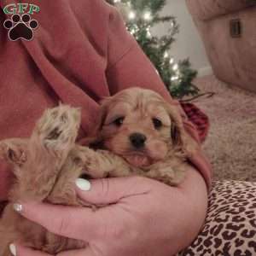
M119 90L140 86L172 101L146 55L126 31L118 11L103 0L1 0L33 3L40 12L34 38L11 42L0 12L0 140L28 137L45 108L64 102L82 108L79 138L93 129L98 102ZM184 119L198 139L195 127ZM192 160L207 185L211 168L201 154ZM8 167L0 162L0 201L8 189Z

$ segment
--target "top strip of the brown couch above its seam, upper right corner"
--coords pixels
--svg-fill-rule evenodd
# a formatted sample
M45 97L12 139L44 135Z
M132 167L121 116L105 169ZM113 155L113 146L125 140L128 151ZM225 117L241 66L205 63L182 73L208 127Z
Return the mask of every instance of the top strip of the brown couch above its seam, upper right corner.
M256 6L256 0L186 0L191 15L200 20L209 20L218 15L230 14Z

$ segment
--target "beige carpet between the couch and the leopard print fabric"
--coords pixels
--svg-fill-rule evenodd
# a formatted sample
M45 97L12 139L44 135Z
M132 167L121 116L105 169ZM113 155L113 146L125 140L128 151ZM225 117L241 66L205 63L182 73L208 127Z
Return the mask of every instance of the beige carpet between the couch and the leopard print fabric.
M195 84L201 92L216 92L194 101L211 121L203 148L212 162L214 179L256 181L256 94L213 76L196 79Z

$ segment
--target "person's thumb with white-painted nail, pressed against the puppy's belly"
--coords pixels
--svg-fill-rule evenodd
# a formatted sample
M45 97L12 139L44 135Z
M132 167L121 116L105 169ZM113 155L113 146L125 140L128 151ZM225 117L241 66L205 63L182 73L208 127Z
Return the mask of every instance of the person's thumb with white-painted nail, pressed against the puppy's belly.
M76 190L80 199L95 205L117 203L132 195L148 193L153 187L153 180L146 177L111 177L94 180L79 178Z

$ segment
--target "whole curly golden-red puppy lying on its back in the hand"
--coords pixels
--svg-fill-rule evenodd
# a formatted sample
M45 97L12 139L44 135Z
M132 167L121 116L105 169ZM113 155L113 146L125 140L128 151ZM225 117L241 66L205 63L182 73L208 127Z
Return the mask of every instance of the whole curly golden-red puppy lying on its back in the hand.
M51 254L86 247L21 217L14 202L84 207L74 189L82 174L142 175L177 185L198 147L184 131L177 107L152 90L131 88L102 102L96 132L85 139L97 149L75 144L79 125L79 109L61 105L44 112L30 138L0 142L0 156L14 166L16 177L0 221L1 256L11 256L9 244L14 241Z

